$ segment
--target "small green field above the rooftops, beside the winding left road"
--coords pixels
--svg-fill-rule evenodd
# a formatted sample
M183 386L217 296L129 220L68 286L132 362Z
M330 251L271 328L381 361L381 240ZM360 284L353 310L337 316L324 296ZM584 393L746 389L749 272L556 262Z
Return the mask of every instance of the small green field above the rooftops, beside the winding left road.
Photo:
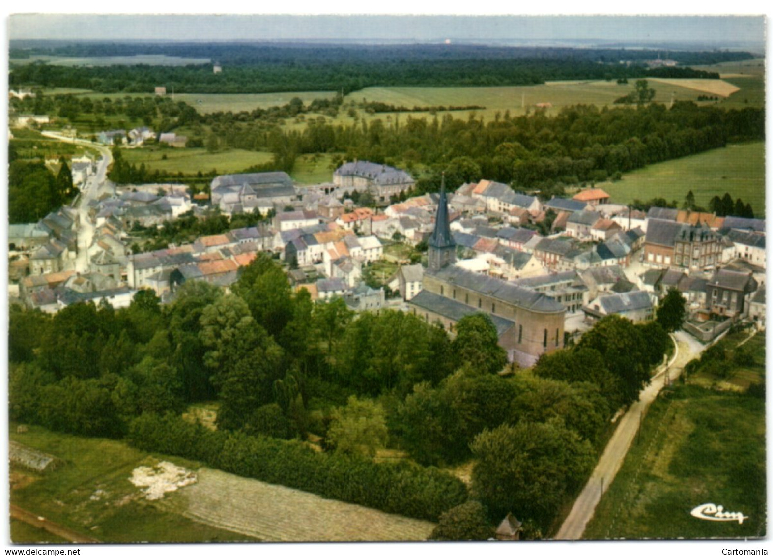
M183 174L211 172L229 174L243 172L256 164L271 162L271 153L230 148L223 152L207 152L205 148L125 148L121 154L128 162L145 162L150 170ZM166 158L164 158L166 157Z

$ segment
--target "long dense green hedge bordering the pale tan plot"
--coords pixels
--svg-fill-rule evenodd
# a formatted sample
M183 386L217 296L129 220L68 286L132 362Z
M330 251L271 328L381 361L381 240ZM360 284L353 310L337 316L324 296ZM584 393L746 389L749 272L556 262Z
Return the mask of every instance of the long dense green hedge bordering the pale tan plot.
M138 449L196 459L215 469L407 517L437 521L467 500L461 480L411 462L376 463L315 452L297 440L211 431L175 414L142 414L129 426Z

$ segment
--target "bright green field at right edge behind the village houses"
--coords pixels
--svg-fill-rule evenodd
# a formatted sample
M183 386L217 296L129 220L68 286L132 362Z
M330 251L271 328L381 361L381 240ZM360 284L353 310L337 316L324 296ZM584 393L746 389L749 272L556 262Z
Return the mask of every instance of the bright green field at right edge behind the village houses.
M634 199L663 197L679 206L692 189L696 203L708 209L715 195L730 193L751 203L754 215L764 217L765 177L764 143L727 145L699 155L652 164L628 172L619 182L601 187L611 195L612 203L630 203Z

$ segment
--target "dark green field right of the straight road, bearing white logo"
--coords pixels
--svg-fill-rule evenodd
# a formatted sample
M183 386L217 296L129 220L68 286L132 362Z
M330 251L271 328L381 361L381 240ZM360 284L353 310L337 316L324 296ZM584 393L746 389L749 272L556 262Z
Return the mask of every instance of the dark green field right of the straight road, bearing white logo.
M724 340L728 347L744 339ZM737 369L754 383L764 374L764 335L747 344L754 364ZM652 404L615 482L584 533L602 538L762 537L765 522L764 397L727 389L723 380L677 384ZM748 381L747 381L748 384ZM748 519L707 521L690 512L721 505Z

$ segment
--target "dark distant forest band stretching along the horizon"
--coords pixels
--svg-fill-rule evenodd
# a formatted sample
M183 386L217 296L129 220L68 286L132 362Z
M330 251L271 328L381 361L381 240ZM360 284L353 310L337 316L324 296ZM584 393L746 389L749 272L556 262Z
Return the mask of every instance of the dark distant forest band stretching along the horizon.
M691 64L750 60L744 52L669 52L680 67L648 68L658 50L492 47L473 45L332 45L278 43L46 43L12 42L12 60L31 56L208 57L223 66L149 65L60 67L12 63L9 84L77 87L101 93L150 93L158 85L178 93L269 93L373 86L501 86L547 80L630 77L706 77Z

